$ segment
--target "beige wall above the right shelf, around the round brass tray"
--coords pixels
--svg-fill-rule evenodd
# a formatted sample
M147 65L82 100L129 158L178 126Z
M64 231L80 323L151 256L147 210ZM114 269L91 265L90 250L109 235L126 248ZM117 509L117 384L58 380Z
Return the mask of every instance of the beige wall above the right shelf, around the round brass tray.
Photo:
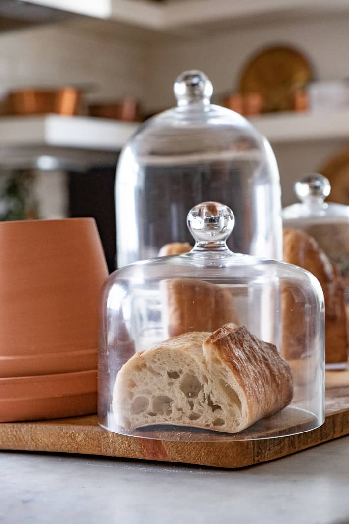
M286 44L299 48L313 65L317 79L349 75L349 16L234 27L207 31L195 40L171 40L152 45L148 104L153 110L172 105L172 84L186 69L202 69L216 93L237 88L239 73L249 56L262 47Z

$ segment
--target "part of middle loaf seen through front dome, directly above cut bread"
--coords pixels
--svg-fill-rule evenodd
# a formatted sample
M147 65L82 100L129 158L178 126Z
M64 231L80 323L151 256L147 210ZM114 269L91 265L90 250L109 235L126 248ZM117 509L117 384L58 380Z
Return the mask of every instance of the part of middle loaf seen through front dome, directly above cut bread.
M232 293L203 280L170 279L160 283L162 320L168 337L188 331L215 331L238 324Z

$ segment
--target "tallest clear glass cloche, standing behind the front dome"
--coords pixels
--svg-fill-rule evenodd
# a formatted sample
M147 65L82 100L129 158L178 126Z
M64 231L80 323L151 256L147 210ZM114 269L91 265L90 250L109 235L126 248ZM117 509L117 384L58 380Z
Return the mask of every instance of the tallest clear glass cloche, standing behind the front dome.
M282 258L280 185L266 138L241 115L212 105L200 71L174 84L177 106L150 118L121 152L116 177L118 267L190 240L187 210L224 201L237 227L235 252Z

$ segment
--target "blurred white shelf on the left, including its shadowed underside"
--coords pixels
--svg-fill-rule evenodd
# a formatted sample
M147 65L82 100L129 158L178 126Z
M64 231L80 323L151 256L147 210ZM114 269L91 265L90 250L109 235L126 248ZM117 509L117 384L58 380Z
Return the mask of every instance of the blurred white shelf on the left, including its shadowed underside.
M91 116L0 118L0 168L84 172L110 167L138 123Z

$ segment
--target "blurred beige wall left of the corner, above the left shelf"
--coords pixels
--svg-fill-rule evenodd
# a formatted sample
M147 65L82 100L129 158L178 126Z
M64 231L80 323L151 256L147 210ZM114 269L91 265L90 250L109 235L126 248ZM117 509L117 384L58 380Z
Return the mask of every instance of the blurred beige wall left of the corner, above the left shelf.
M144 97L147 48L101 21L36 26L0 35L0 90L94 84L87 98Z

